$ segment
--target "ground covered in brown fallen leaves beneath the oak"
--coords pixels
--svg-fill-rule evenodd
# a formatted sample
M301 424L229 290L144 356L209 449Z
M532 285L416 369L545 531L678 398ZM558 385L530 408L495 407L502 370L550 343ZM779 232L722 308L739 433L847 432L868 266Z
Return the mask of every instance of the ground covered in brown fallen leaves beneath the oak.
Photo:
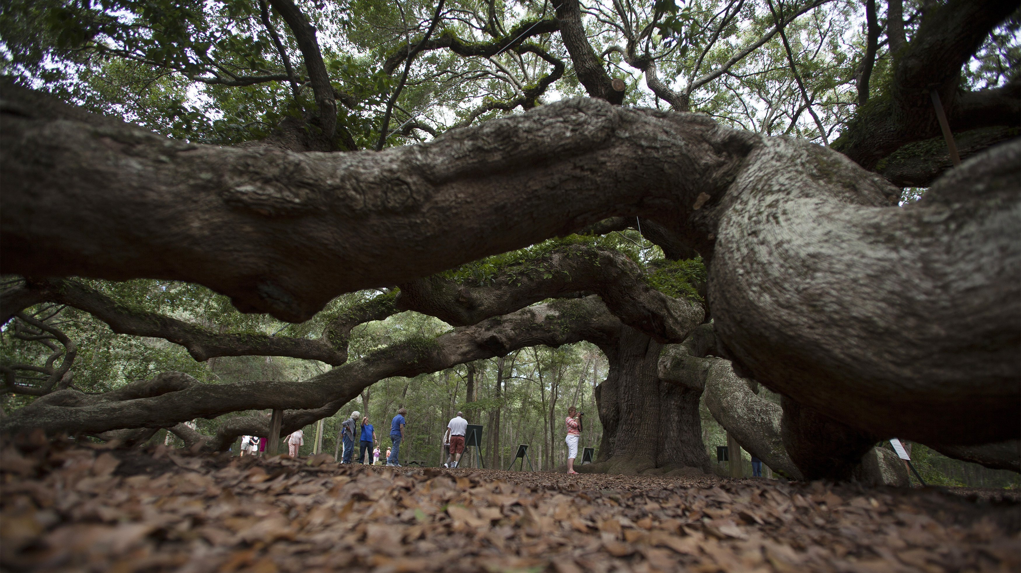
M1021 570L1017 491L0 449L0 571Z

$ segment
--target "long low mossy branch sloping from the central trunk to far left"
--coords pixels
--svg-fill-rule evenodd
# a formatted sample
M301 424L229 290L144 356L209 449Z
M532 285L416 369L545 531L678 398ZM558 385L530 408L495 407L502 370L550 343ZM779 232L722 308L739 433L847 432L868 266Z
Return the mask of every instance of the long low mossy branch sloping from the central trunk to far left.
M324 417L330 415L324 414L324 404L340 408L383 378L436 372L529 346L604 342L620 327L620 321L598 297L554 301L457 328L434 340L395 344L302 382L203 384L187 374L166 372L101 395L55 392L0 420L0 431L15 433L41 427L50 434L95 434L120 428L171 427L194 418L266 408L320 409L315 415ZM291 417L282 431L305 425L303 419L300 415ZM290 425L296 423L301 425Z

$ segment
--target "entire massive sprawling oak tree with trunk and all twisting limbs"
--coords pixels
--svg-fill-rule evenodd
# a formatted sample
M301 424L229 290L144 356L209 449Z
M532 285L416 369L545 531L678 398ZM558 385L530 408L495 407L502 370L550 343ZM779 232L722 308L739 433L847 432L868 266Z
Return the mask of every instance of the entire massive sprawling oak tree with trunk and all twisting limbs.
M669 43L651 41L653 31L676 21L669 9L657 8L646 20L622 11L626 48L600 56L586 37L577 1L554 3L555 18L521 22L509 32L491 12L482 18L487 23L480 30L489 40L481 43L449 31L434 37L440 3L418 40L386 60L387 73L403 72L382 124L359 136L378 136L377 149L390 136L393 106L420 53L449 50L499 66L493 58L509 49L519 58L538 57L552 71L522 86L517 99L487 101L461 122L468 126L381 151L353 151L355 138L335 120L336 101L350 96L330 87L315 29L295 4L272 6L289 27L307 73L298 77L286 50L278 50L287 67L278 80L294 87L298 104L299 86L309 90L314 105L306 102L300 119L285 118L261 142L172 140L2 84L0 256L4 272L31 277L5 300L3 312L9 317L34 302L68 304L118 331L182 344L199 360L283 355L337 367L302 385L261 382L258 389L205 387L172 374L100 397L61 389L4 421L6 428L169 427L196 416L270 407L296 410L285 426L300 427L332 414L381 377L442 369L537 343L589 340L612 365L599 392L607 430L600 460L611 471L704 468L704 451L692 445L692 404L711 382L738 377L784 396L780 439L786 452L781 455L774 434L758 442L751 432L742 445L807 476L847 477L872 444L893 435L947 452L1017 439L1021 143L1010 138L1021 108L1016 80L969 91L960 79L962 66L1013 4L940 4L915 14L917 30L908 39L903 7L889 2L891 72L877 96L869 77L882 29L870 3L871 48L856 75L859 108L841 138L824 147L732 128L686 111L695 90L776 36L812 111L784 31L813 5L770 4L773 17L760 37L702 75L699 57L687 88L678 92L658 75L657 62L675 57L664 48ZM737 9L731 8L723 20L706 24L713 38L733 25ZM263 15L266 10L262 6ZM263 19L272 32L269 16ZM561 77L564 62L541 45L521 42L553 33L590 98L531 109ZM673 109L620 106L627 86L600 63L611 53L624 54ZM147 61L133 54L121 57ZM248 81L234 72L228 77L223 69L197 75L193 63L178 71L212 84ZM969 132L962 150L973 157L947 172L938 151L910 165L902 161L910 146L938 135L934 101L943 102L952 131L986 128ZM493 110L519 106L529 111L470 125ZM415 116L396 132L432 129L412 123ZM821 132L820 123L826 142ZM914 174L904 174L909 172ZM929 183L921 201L897 206L901 189L894 184ZM688 338L703 320L700 307L660 296L612 254L596 256L598 268L572 266L570 257L551 262L567 279L508 280L499 289L435 276L549 237L621 224L607 217L626 217L627 224L637 218L637 226L646 221L646 236L665 253L702 256L712 346L722 358L704 362L701 343ZM60 278L69 275L197 282L230 296L244 312L289 321L305 320L334 297L358 289L399 285L400 295L336 317L319 340L239 340L168 317L125 312ZM591 293L603 302L589 297L519 310L549 297ZM405 345L345 363L351 326L395 309L421 310L467 328L444 334L435 346ZM665 352L662 345L669 343L687 346ZM698 373L672 375L664 356L687 356ZM712 387L717 390L707 397L710 404L737 396ZM718 418L726 417L717 410ZM655 415L680 433L653 427ZM252 431L245 423L264 422L225 425L220 446ZM647 448L624 452L616 441L619 427L659 433ZM738 429L736 422L733 427ZM820 428L825 439L817 439ZM1007 451L1013 452L1017 442L1010 444ZM813 458L821 446L839 454Z

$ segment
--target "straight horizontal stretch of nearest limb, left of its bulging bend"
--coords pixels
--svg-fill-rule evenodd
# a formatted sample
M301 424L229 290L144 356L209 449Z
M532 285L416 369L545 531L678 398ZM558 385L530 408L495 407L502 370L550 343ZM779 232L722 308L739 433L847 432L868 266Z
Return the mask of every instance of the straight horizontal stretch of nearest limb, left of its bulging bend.
M174 142L2 90L6 272L187 280L291 321L609 215L686 220L759 141L569 100L426 144L298 154Z

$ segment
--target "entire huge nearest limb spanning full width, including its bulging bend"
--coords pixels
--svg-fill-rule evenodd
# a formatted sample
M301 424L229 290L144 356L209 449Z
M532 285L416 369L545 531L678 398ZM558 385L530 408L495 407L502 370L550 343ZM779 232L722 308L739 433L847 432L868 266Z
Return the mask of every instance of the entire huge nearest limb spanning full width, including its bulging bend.
M301 320L342 292L638 215L711 261L739 372L879 434L985 444L1021 426L1021 144L902 209L832 150L598 100L379 153L290 154L3 95L7 272L191 280Z

